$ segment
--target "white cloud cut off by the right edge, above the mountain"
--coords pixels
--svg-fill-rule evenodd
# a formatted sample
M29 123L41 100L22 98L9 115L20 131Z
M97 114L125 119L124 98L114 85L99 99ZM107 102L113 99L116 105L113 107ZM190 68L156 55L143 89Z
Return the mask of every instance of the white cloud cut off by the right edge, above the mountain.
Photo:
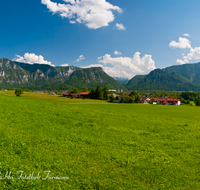
M185 64L189 63L189 60L195 59L198 60L200 59L200 47L195 47L190 49L190 53L187 55L184 55L182 59L177 59L176 62L180 64Z

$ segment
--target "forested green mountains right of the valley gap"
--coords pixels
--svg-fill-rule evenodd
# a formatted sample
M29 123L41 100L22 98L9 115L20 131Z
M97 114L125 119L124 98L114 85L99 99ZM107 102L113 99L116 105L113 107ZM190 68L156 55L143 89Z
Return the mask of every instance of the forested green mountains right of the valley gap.
M200 90L200 63L155 69L148 75L136 75L125 87L129 90Z

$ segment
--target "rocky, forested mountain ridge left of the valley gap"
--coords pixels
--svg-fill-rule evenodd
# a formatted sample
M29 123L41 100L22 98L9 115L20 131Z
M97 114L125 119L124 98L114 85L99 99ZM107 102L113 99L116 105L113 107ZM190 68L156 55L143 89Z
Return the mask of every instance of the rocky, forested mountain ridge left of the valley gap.
M92 88L98 84L102 87L108 85L110 88L125 89L100 67L52 67L0 59L0 88Z

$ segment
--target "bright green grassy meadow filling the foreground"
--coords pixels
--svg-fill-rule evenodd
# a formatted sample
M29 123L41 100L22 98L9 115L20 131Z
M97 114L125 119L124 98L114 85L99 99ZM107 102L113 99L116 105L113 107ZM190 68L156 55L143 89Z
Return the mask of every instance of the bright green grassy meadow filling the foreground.
M200 189L199 116L192 106L1 94L0 175L40 179L7 177L0 189ZM69 179L41 179L44 171Z

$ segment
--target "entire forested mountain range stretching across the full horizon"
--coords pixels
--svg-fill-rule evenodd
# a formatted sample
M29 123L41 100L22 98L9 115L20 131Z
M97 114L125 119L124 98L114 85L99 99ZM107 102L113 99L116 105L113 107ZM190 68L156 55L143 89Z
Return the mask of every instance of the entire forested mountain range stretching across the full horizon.
M116 79L116 80L115 80ZM88 89L109 86L116 90L200 90L200 63L155 69L148 75L132 79L112 78L101 67L52 67L45 64L28 64L0 59L0 88L54 89L74 87Z

